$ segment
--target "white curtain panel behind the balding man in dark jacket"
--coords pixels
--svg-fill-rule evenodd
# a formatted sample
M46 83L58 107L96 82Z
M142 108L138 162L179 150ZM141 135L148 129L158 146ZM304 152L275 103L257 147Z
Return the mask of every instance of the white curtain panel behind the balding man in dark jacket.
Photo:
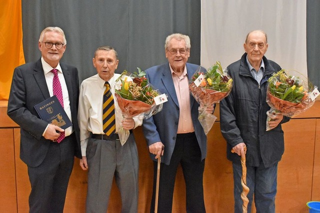
M201 65L240 59L254 29L267 34L268 59L307 76L306 0L201 0Z

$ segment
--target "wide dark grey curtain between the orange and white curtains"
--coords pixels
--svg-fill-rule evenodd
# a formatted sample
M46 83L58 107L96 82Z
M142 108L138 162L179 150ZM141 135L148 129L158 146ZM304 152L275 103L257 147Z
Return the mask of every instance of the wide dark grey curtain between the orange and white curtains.
M25 61L41 56L42 29L59 26L67 40L61 61L78 68L80 81L96 74L92 57L102 45L116 49L118 73L167 62L164 41L174 32L190 36L188 62L199 64L200 11L200 0L22 0Z

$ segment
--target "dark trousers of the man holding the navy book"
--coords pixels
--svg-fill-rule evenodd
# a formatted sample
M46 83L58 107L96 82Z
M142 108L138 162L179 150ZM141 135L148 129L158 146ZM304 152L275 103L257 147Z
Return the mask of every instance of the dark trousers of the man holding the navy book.
M59 144L50 143L43 162L28 167L30 213L63 213L66 190L74 162L74 134Z

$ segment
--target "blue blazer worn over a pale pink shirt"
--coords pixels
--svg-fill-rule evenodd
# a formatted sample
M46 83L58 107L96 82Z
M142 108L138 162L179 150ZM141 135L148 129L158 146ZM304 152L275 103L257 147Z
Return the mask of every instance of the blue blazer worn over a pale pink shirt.
M186 63L188 78L190 79L199 65ZM204 68L203 68L204 69ZM150 84L158 89L161 94L165 93L168 96L168 101L163 103L162 111L151 116L149 119L143 120L143 134L148 146L161 141L164 145L164 154L161 157L161 162L169 165L171 155L175 145L175 138L179 121L179 103L176 97L172 75L169 64L153 66L147 70L146 78ZM206 136L198 120L199 104L190 95L191 118L194 132L201 149L201 159L206 156ZM150 154L152 160L154 155Z

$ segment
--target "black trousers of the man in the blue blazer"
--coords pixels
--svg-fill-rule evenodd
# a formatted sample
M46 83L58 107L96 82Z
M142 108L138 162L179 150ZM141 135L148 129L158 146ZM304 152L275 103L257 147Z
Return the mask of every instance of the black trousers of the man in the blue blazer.
M181 164L185 181L186 212L205 213L202 181L204 160L201 161L201 151L194 133L178 134L170 164L161 163L160 165L158 213L170 213L172 211L175 175L179 164ZM154 212L155 205L157 162L154 162L153 166L151 213Z

